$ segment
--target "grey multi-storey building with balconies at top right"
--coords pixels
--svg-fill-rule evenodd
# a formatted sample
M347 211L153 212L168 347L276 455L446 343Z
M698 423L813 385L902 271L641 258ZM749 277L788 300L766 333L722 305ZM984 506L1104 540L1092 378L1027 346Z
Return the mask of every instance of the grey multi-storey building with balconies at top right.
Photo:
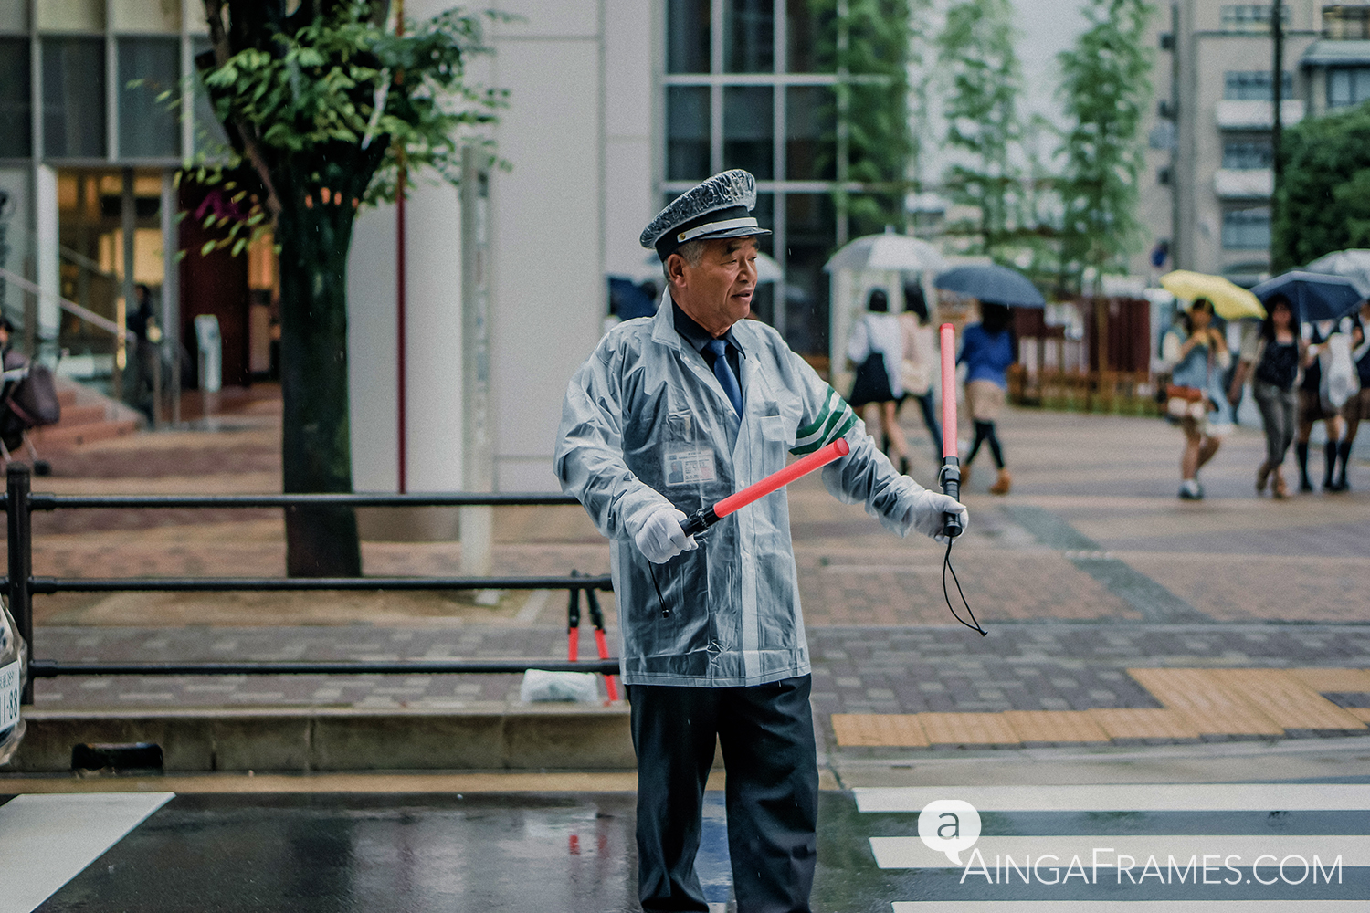
M1158 44L1169 53L1155 74L1143 216L1154 244L1169 245L1163 268L1240 285L1269 275L1271 10L1206 0L1162 10ZM1370 97L1370 5L1293 0L1281 10L1284 126ZM1155 271L1149 261L1134 266Z

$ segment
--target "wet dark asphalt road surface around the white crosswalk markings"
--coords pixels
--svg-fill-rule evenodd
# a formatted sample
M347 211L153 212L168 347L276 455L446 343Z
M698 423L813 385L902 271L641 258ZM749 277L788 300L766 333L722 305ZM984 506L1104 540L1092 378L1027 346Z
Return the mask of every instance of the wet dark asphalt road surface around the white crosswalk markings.
M1169 909L1184 909L1195 901L1234 902L1206 905L1222 913L1223 908L1237 909L1241 901L1259 899L1280 902L1282 912L1295 913L1322 909L1304 908L1307 902L1370 897L1370 784L1269 784L1258 787L1254 803L1236 795L1236 787L1180 787L1177 808L1166 806L1169 799L1158 805L1148 798L1147 790L1171 787L1117 787L1125 791L1117 801L1106 799L1097 808L1077 803L1073 810L1052 809L1070 805L1075 787L1075 793L1059 795L1049 788L1044 794L1043 787L1034 787L1033 795L1044 799L1040 806L981 809L984 866L975 868L963 857L967 869L949 868L941 857L919 857L922 845L908 839L918 834L918 814L900 802L921 806L927 793L822 793L814 910L904 913L952 909L948 902L970 903L955 909L1007 910L1023 901L1047 901L1054 909L1066 903L1059 909L1067 910L1084 910L1069 905L1080 901L1166 901L1180 905ZM1343 791L1323 801L1319 790ZM943 793L945 798L980 795L973 788ZM899 808L877 810L891 795ZM1341 802L1347 808L1330 808L1347 797L1351 801ZM1189 810L1186 802L1210 810ZM633 803L630 793L181 794L37 909L633 910ZM1217 809L1223 805L1232 808ZM1115 806L1119 810L1103 810ZM5 831L5 820L0 805L0 846L5 839L22 839ZM1218 868L1204 877L1197 871L1184 876L1167 865L1167 851L1180 847L1184 862L1191 851L1208 853L1210 843L1215 854L1244 856L1236 862L1230 856L1215 861ZM1107 866L1103 873L1092 871L1088 856L1084 871L1071 872L1069 857L1081 851L1078 846L1149 846L1144 853L1160 860L1158 869L1148 872L1138 858L1128 880L1121 875L1115 879ZM1326 853L1325 868L1318 871L1322 876L1315 872L1299 879L1307 866L1300 869L1296 861L1281 876L1278 861L1310 854L1308 847ZM1333 850L1344 857L1336 869L1330 868ZM1019 875L1014 876L999 862L1000 851L1022 851L1038 865L1026 876L1026 869L1015 869ZM912 861L900 862L899 853L912 853ZM1275 861L1252 868L1258 853ZM1062 858L1047 862L1043 857L1048 854ZM1023 861L1018 856L1015 864ZM1222 868L1225 862L1233 868ZM697 868L706 898L715 905L729 901L722 793L708 794Z

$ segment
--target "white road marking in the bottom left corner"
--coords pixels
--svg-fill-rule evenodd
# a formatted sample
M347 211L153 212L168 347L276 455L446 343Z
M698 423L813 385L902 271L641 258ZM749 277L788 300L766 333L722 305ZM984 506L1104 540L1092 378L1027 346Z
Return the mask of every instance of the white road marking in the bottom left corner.
M0 805L0 913L32 913L174 795L18 795Z

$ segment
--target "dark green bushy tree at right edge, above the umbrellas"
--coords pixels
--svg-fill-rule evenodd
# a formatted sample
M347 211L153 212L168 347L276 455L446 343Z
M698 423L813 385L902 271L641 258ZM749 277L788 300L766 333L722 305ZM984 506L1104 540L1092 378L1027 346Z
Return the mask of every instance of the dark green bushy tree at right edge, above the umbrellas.
M1284 271L1370 248L1370 101L1285 130L1270 256Z

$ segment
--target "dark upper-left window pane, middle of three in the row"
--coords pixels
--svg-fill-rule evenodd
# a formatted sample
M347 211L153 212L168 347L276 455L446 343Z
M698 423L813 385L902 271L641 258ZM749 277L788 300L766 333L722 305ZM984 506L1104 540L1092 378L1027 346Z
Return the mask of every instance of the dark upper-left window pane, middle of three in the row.
M44 38L44 156L103 159L104 105L104 40Z

